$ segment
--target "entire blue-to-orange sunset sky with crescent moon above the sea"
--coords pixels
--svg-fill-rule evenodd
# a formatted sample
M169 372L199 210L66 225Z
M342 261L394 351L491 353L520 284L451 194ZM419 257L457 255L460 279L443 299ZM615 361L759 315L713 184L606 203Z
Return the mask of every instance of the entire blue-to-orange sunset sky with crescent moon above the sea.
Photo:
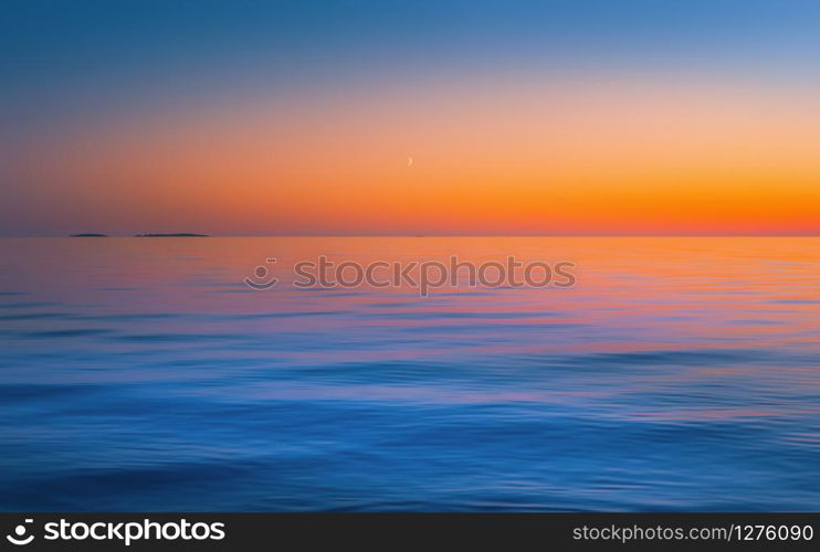
M0 235L818 235L814 0L41 1Z

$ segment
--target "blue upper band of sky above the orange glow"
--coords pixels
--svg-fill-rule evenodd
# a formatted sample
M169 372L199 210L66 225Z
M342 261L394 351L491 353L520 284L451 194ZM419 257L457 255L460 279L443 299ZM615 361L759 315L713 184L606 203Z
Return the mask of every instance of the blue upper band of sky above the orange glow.
M722 63L816 71L809 0L6 1L7 94L177 72Z

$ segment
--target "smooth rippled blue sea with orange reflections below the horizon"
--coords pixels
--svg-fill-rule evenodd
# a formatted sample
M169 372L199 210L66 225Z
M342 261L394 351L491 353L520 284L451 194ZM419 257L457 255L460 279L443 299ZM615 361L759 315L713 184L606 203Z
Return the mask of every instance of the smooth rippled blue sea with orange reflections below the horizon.
M2 510L820 510L819 238L0 240ZM336 259L570 289L299 290ZM242 279L277 257L285 282Z

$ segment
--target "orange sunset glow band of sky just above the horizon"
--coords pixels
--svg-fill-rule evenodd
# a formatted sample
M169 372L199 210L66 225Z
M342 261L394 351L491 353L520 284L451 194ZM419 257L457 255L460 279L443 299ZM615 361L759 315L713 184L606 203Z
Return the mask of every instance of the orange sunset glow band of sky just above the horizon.
M812 92L497 74L260 92L41 137L11 193L61 231L817 234Z

